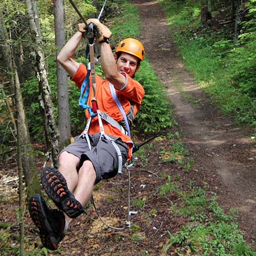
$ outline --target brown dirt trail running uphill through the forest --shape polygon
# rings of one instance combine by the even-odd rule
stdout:
[[[182,139],[200,172],[213,180],[223,208],[239,208],[240,228],[245,238],[256,238],[256,150],[255,141],[239,126],[218,113],[184,68],[171,39],[164,11],[156,1],[132,0],[143,24],[140,40],[146,57],[165,84],[174,105]],[[181,91],[183,93],[181,93]],[[182,95],[197,99],[191,104]]]

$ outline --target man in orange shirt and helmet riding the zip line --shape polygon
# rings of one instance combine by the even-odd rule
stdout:
[[[29,212],[39,229],[42,244],[51,250],[57,249],[72,219],[83,212],[83,207],[92,196],[94,185],[102,179],[112,178],[117,174],[120,157],[122,165],[131,159],[133,144],[127,135],[130,129],[126,127],[123,120],[125,118],[113,99],[111,84],[114,86],[129,126],[144,96],[141,84],[132,79],[143,60],[144,48],[141,42],[126,38],[120,42],[113,56],[109,45],[110,30],[97,19],[89,19],[88,24],[91,23],[97,31],[101,67],[106,80],[96,75],[96,95],[90,88],[87,104],[92,107],[91,100],[96,98],[98,110],[119,124],[101,120],[96,114],[91,119],[88,131],[82,136],[77,136],[73,143],[60,152],[58,170],[53,167],[42,170],[42,186],[58,209],[50,209],[44,199],[36,194],[29,201]],[[58,62],[69,73],[78,88],[81,88],[87,75],[86,66],[73,58],[84,36],[83,27],[84,24],[78,25],[78,31],[57,57]],[[90,111],[87,109],[86,118],[90,119],[90,117]],[[102,121],[102,129],[100,129],[99,119]]]

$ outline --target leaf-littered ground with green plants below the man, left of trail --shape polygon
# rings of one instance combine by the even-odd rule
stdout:
[[[90,203],[87,214],[74,220],[53,252],[41,246],[38,230],[26,212],[26,255],[256,255],[238,229],[238,212],[225,213],[218,204],[214,188],[220,181],[197,168],[177,131],[165,131],[134,157],[131,228],[107,228]],[[19,246],[17,180],[10,169],[1,171],[1,255],[18,255]],[[122,175],[95,187],[99,214],[112,226],[125,226],[128,180],[123,169]],[[47,203],[52,205],[50,200]]]

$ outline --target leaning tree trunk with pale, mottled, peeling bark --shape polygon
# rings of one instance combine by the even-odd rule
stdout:
[[[42,49],[42,38],[38,23],[38,13],[35,0],[26,0],[26,8],[28,11],[29,28],[32,41],[34,42],[35,61],[39,84],[39,103],[40,111],[44,119],[44,127],[46,133],[46,142],[50,159],[55,167],[58,166],[58,129],[55,124],[54,111],[52,106],[51,90],[49,87],[45,54]]]

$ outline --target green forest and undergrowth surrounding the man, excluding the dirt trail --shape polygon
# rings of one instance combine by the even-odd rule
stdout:
[[[170,26],[168,40],[174,42],[186,71],[193,75],[216,110],[230,118],[232,124],[242,127],[252,141],[254,155],[249,158],[253,166],[255,0],[76,0],[74,3],[84,19],[99,17],[102,10],[100,21],[113,33],[113,53],[125,37],[147,39],[150,32],[142,26],[138,6],[149,12],[151,5],[157,4]],[[145,96],[132,127],[132,138],[135,144],[143,144],[149,138],[154,140],[135,153],[137,162],[133,168],[140,170],[140,175],[134,176],[132,186],[139,188],[132,190],[131,202],[140,216],[136,214],[130,230],[108,231],[100,222],[95,224],[97,216],[90,203],[86,209],[88,216],[82,215],[73,224],[72,234],[60,249],[51,252],[42,247],[29,218],[27,201],[35,193],[43,194],[41,168],[57,167],[59,152],[86,124],[84,110],[78,104],[80,91],[56,61],[60,49],[82,21],[68,0],[11,0],[2,1],[0,6],[1,255],[256,255],[255,230],[244,233],[241,229],[246,225],[239,222],[239,211],[221,208],[218,193],[211,193],[218,180],[212,181],[214,178],[209,174],[198,170],[196,160],[182,141],[179,118],[167,93],[168,87],[179,88],[179,82],[173,80],[167,84],[158,75],[161,71],[173,72],[175,76],[178,70],[166,72],[161,64],[154,67],[153,51],[146,48],[145,60],[135,77]],[[154,14],[151,19],[154,23]],[[166,30],[166,34],[155,39],[155,51],[166,50],[160,41],[167,35]],[[86,47],[84,40],[75,52],[76,61],[87,62]],[[95,57],[100,63],[97,44]],[[103,77],[100,65],[95,68]],[[200,103],[184,91],[181,94],[190,104]],[[146,183],[146,192],[141,190],[140,183],[146,182],[147,175],[152,178]],[[127,208],[123,206],[127,202],[122,185],[127,185],[127,174],[119,179],[95,188],[95,201],[112,225],[118,225]],[[53,204],[51,200],[48,202]],[[9,209],[7,205],[11,205]],[[77,230],[79,225],[90,236],[84,238]],[[103,243],[108,246],[102,248]]]

